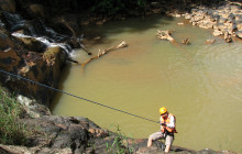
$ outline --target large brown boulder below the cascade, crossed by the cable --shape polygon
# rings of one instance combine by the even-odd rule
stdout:
[[[51,46],[44,53],[31,52],[24,45],[4,33],[0,34],[0,68],[8,73],[23,76],[50,87],[57,87],[62,67],[66,62],[66,52],[59,46]],[[55,91],[40,85],[0,74],[1,84],[11,91],[50,106]]]

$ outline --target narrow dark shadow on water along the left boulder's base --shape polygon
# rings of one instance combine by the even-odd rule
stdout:
[[[66,64],[66,66],[65,66],[64,69],[62,70],[62,76],[61,76],[61,78],[59,78],[59,80],[58,80],[58,87],[57,87],[57,89],[59,89],[59,90],[64,89],[64,82],[65,82],[65,80],[68,78],[68,76],[69,76],[69,74],[70,74],[70,68],[72,68],[72,64],[68,63],[68,64]],[[58,91],[55,92],[55,96],[53,97],[54,99],[52,100],[51,107],[50,107],[51,112],[52,112],[53,109],[55,109],[55,107],[58,105],[62,95],[63,95],[62,92],[58,92]]]

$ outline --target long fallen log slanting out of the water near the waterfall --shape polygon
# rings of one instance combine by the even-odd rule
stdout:
[[[91,61],[97,59],[97,58],[103,56],[103,55],[107,54],[108,52],[116,51],[116,50],[119,50],[119,48],[123,48],[123,47],[127,47],[127,46],[128,46],[128,44],[123,41],[122,43],[120,43],[119,45],[117,45],[117,47],[111,46],[111,47],[109,47],[109,48],[107,48],[107,50],[105,50],[105,51],[102,51],[102,52],[101,52],[101,50],[99,50],[97,56],[94,56],[94,57],[89,58],[88,61],[86,61],[85,63],[82,63],[81,66],[85,67],[88,63],[90,63]]]

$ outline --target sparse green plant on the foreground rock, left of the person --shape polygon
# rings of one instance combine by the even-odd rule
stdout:
[[[127,145],[124,145],[127,143]],[[133,153],[133,147],[130,146],[129,139],[124,136],[120,129],[119,125],[117,127],[117,133],[114,134],[114,139],[111,144],[108,142],[106,143],[106,148],[107,152],[110,154],[132,154]]]

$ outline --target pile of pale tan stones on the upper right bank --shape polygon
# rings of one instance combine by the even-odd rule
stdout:
[[[218,8],[191,9],[185,19],[193,25],[202,29],[213,29],[213,36],[223,36],[230,43],[235,37],[242,38],[242,4],[227,3]]]

